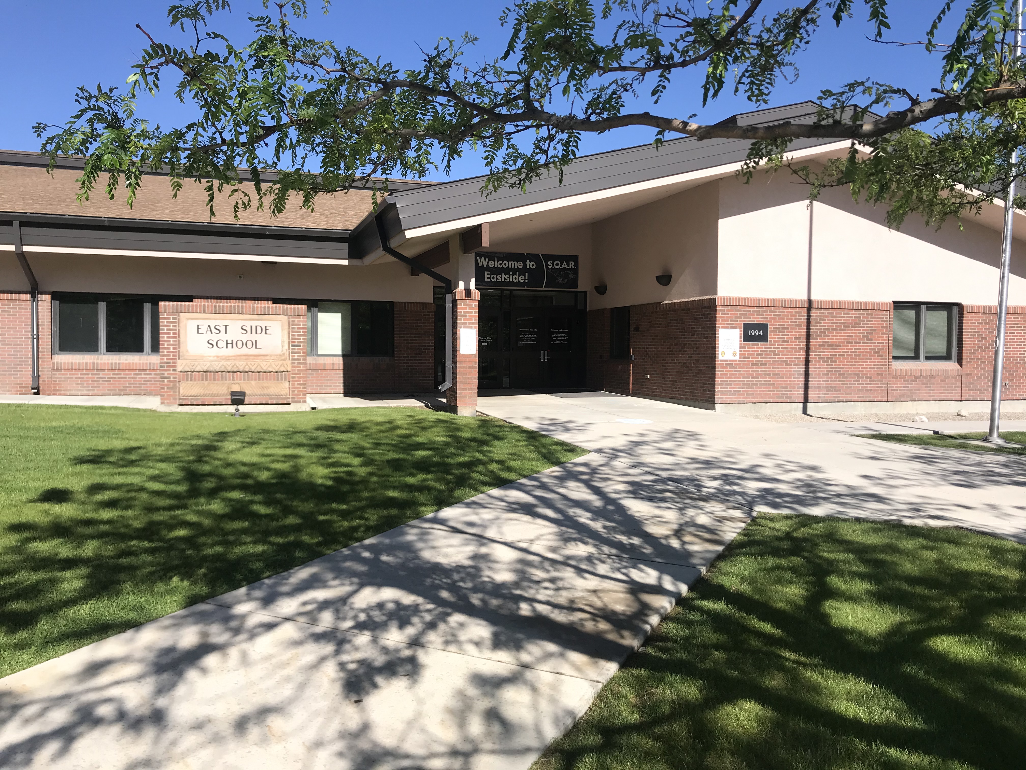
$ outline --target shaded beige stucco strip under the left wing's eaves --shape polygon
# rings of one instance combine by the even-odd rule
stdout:
[[[28,257],[42,292],[431,302],[433,285],[427,276],[413,277],[408,267],[395,261],[373,265],[265,265],[157,257]],[[0,292],[27,288],[13,253],[0,252]]]

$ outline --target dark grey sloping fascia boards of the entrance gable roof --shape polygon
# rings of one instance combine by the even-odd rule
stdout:
[[[818,105],[815,102],[800,102],[742,113],[721,122],[742,125],[785,120],[812,123],[816,118],[817,109]],[[803,150],[837,142],[838,140],[796,140],[791,148]],[[396,205],[401,229],[409,231],[456,219],[484,217],[532,203],[737,164],[745,160],[750,146],[751,143],[746,140],[698,140],[694,137],[682,137],[667,140],[662,146],[636,145],[594,155],[583,155],[563,168],[561,184],[557,175],[551,175],[532,182],[526,192],[521,192],[519,189],[504,189],[485,196],[482,187],[487,177],[480,176],[443,182],[420,190],[397,191],[390,194],[388,199]],[[354,228],[354,234],[365,226],[366,222],[361,222]]]

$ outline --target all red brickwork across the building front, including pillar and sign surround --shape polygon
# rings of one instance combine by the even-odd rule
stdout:
[[[477,292],[457,293],[450,406],[477,403],[477,355],[459,353],[459,330],[477,328]],[[30,296],[0,294],[0,392],[31,387]],[[285,315],[285,371],[185,372],[179,367],[179,314]],[[990,397],[996,308],[965,305],[959,312],[953,362],[891,359],[893,307],[887,302],[709,297],[631,308],[633,360],[610,360],[609,312],[588,313],[590,388],[713,403],[836,401],[961,401]],[[303,305],[266,299],[197,299],[160,304],[159,355],[51,352],[51,304],[39,298],[40,388],[53,395],[155,395],[164,403],[225,403],[227,396],[182,395],[182,383],[243,382],[250,403],[302,402],[311,393],[426,392],[433,385],[434,305],[395,303],[393,356],[308,356]],[[742,343],[738,361],[716,359],[717,330],[770,324],[770,340]],[[1003,396],[1026,399],[1026,307],[1009,309]],[[269,383],[268,386],[261,385]],[[270,385],[287,383],[287,385]],[[246,386],[243,386],[245,389]],[[278,395],[260,395],[273,387]]]

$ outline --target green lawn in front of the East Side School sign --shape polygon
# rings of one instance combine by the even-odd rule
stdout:
[[[418,409],[0,405],[0,677],[582,454]]]

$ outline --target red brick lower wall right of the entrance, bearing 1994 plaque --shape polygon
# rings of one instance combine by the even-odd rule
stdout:
[[[631,307],[633,361],[609,360],[609,312],[589,312],[588,386],[713,403],[960,401],[990,397],[996,307],[959,313],[954,362],[892,361],[890,302],[709,297]],[[770,324],[716,359],[717,330]],[[1026,398],[1026,307],[1009,309],[1003,397]]]

